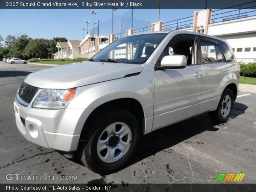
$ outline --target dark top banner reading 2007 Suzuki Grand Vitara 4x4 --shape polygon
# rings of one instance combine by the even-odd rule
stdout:
[[[177,9],[239,8],[254,0],[1,0],[1,9]]]

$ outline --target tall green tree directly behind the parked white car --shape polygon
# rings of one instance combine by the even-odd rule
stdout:
[[[31,38],[26,34],[19,36],[16,41],[14,41],[13,46],[10,49],[10,55],[17,58],[25,58],[24,49],[30,40]]]

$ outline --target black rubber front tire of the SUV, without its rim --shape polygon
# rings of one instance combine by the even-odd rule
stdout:
[[[98,174],[104,175],[116,172],[130,160],[136,151],[140,138],[138,121],[131,112],[122,108],[104,112],[94,119],[95,120],[91,120],[88,126],[85,127],[86,131],[80,136],[80,143],[78,146],[79,158],[81,158],[82,163],[85,166]],[[102,161],[97,154],[97,142],[104,129],[115,122],[124,122],[130,127],[132,140],[130,141],[130,147],[122,158],[116,162],[107,163]],[[81,141],[83,139],[85,141]]]

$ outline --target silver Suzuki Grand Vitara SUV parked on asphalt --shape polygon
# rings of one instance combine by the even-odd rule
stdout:
[[[140,135],[205,112],[226,122],[239,76],[220,38],[185,31],[126,36],[87,62],[28,75],[14,101],[16,124],[27,140],[76,151],[106,174],[132,157]]]

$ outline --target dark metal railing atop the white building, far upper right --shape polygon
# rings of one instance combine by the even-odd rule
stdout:
[[[234,8],[234,10],[230,10],[231,8]],[[228,7],[225,9],[213,10],[211,23],[218,23],[223,21],[230,21],[230,20],[235,20],[240,18],[256,16],[255,8],[256,8],[256,1],[252,1],[248,3]]]

